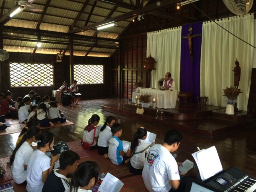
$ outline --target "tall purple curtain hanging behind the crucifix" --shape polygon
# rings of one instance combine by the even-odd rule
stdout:
[[[192,26],[192,34],[202,34],[202,22],[182,26],[181,35],[187,36]],[[192,38],[193,62],[190,61],[188,39],[181,40],[180,54],[180,92],[191,92],[193,102],[200,96],[200,60],[202,36]]]

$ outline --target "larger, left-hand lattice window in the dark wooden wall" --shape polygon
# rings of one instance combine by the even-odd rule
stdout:
[[[11,87],[53,86],[52,64],[10,63]]]

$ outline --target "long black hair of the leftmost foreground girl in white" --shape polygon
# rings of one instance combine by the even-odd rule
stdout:
[[[33,138],[33,136],[37,136],[40,133],[40,129],[36,126],[33,126],[31,128],[28,129],[28,131],[24,134],[24,136],[22,137],[22,140],[19,142],[19,144],[16,146],[16,148],[14,149],[14,151],[12,152],[12,156],[10,157],[10,164],[12,165],[15,159],[15,154],[18,151],[18,149],[20,148],[20,146],[22,146],[22,144],[30,138]]]

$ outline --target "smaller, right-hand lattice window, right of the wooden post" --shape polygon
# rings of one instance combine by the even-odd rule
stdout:
[[[74,65],[74,80],[77,84],[103,84],[103,65]]]

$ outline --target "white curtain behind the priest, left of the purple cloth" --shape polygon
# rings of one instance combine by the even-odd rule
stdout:
[[[150,32],[147,42],[147,57],[156,60],[156,70],[151,72],[151,87],[157,88],[166,72],[172,74],[176,89],[180,90],[180,45],[181,27]]]

